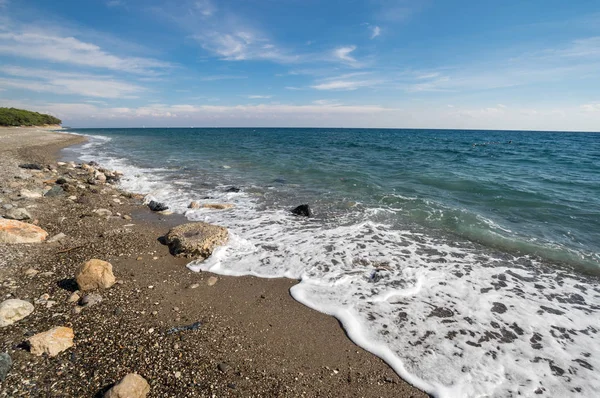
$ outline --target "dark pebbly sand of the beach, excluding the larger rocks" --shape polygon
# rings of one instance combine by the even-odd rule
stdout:
[[[3,192],[3,198],[52,177],[43,172],[32,177],[17,168],[19,162],[55,164],[62,148],[85,140],[63,132],[18,130],[28,131],[4,140],[6,133],[0,130],[9,144],[0,150],[6,164],[0,182],[11,191]],[[47,141],[40,144],[37,139]],[[0,254],[18,252],[7,264],[0,262],[4,297],[11,294],[33,303],[49,294],[46,302],[55,301],[49,308],[34,304],[29,317],[0,329],[6,336],[0,351],[13,358],[0,396],[102,396],[134,371],[150,383],[149,396],[157,397],[427,396],[352,343],[335,318],[295,301],[289,289],[296,281],[191,272],[185,268],[187,261],[172,257],[157,241],[185,220],[152,213],[139,199],[109,185],[86,189],[77,194],[85,200],[60,196],[17,201],[34,206],[26,208],[49,236],[62,232],[66,238],[0,245]],[[97,208],[113,215],[98,217],[92,213]],[[71,291],[61,286],[90,258],[109,261],[122,284],[100,292],[101,303],[74,314],[75,305],[67,302]],[[32,267],[37,275],[23,274]],[[52,274],[41,276],[48,272]],[[207,284],[210,277],[217,278],[213,286]],[[202,323],[198,330],[166,333],[197,321]],[[24,336],[58,325],[71,325],[75,331],[75,346],[66,352],[34,357],[21,347]]]

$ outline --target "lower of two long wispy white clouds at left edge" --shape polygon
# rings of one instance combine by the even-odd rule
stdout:
[[[49,92],[56,95],[75,94],[99,98],[137,98],[145,91],[141,86],[119,81],[110,76],[56,72],[47,69],[1,67],[0,72],[12,76],[0,78],[0,87]]]

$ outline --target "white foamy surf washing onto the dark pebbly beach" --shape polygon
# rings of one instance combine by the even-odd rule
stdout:
[[[211,202],[234,209],[188,210],[203,195],[167,182],[168,171],[95,160],[124,171],[125,189],[230,230],[227,245],[188,268],[298,279],[296,300],[338,318],[356,344],[434,396],[591,398],[600,391],[595,280],[372,221],[391,209],[365,209],[352,223],[317,222],[287,209],[257,211],[258,198],[220,187]]]

